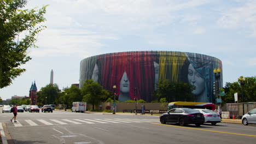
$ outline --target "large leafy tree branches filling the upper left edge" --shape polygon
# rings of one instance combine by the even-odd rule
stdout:
[[[45,26],[47,5],[40,9],[23,9],[27,0],[0,1],[0,88],[9,86],[26,69],[21,64],[30,61],[29,47],[37,47],[36,37]],[[20,38],[21,37],[21,38]]]

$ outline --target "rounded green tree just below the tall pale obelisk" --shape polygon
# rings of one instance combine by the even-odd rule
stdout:
[[[59,99],[59,87],[57,84],[49,84],[42,87],[37,92],[37,103],[38,105],[56,104],[56,100]]]

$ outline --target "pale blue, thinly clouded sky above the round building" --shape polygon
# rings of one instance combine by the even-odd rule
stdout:
[[[44,0],[47,28],[28,50],[31,61],[2,99],[29,95],[50,83],[60,89],[79,83],[82,59],[112,52],[181,51],[222,61],[223,82],[256,75],[256,1],[246,0]]]

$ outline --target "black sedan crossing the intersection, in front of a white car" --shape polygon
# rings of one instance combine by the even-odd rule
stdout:
[[[205,122],[205,117],[202,113],[189,108],[176,108],[163,113],[160,116],[160,122],[165,123],[178,123],[181,126],[187,124],[195,124],[199,127]]]

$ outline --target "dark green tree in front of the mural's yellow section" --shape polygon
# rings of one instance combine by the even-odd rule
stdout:
[[[158,97],[158,100],[166,98],[168,102],[194,101],[192,91],[195,87],[189,83],[171,83],[170,80],[159,80],[157,87],[158,89],[155,94]]]

